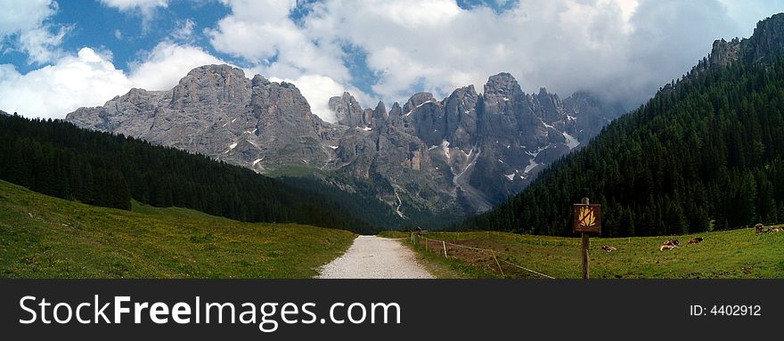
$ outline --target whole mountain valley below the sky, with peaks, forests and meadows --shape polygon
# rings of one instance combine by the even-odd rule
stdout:
[[[64,119],[0,111],[0,273],[570,279],[590,198],[592,278],[784,278],[782,37],[778,13],[715,40],[625,114],[500,72],[389,107],[343,92],[328,121],[221,63]]]

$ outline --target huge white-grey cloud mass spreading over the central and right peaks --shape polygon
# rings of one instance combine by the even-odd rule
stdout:
[[[267,77],[323,76],[350,88],[341,46],[352,45],[367,53],[379,77],[372,90],[388,102],[421,87],[437,96],[468,84],[481,91],[488,76],[507,71],[527,92],[588,89],[636,105],[687,72],[714,39],[753,25],[739,29],[741,16],[728,14],[747,3],[738,0],[532,0],[500,13],[453,0],[325,0],[310,4],[301,25],[289,18],[293,0],[224,2],[232,14],[206,31],[217,51]]]

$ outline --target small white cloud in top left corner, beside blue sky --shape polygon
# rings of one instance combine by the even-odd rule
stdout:
[[[53,0],[0,2],[0,44],[28,54],[29,63],[54,61],[62,55],[60,45],[70,26],[46,22],[58,11]]]

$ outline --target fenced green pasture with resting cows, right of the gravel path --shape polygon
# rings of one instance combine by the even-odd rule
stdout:
[[[389,237],[397,234],[388,233]],[[415,247],[424,255],[422,259],[449,266],[466,277],[540,278],[503,261],[555,278],[582,276],[578,238],[495,231],[431,232],[427,237],[431,240],[427,252],[421,240]],[[687,244],[691,237],[704,240]],[[681,240],[681,248],[659,251],[658,247],[671,238]],[[432,240],[492,249],[499,262],[496,263],[490,252],[448,244],[448,257],[444,257],[443,244]],[[600,248],[602,245],[613,246],[617,251],[605,252]],[[592,238],[589,259],[592,278],[784,278],[784,232],[756,234],[753,229],[740,229],[684,236]]]

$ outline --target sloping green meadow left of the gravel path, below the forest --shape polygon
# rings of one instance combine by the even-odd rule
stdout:
[[[0,278],[309,278],[354,238],[177,207],[91,207],[0,181]]]

